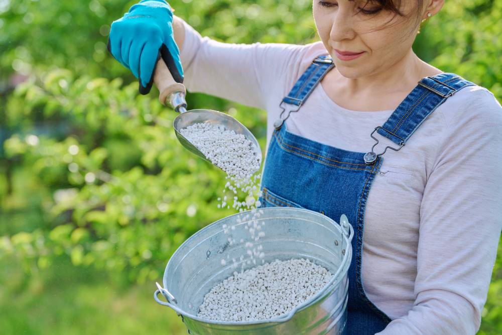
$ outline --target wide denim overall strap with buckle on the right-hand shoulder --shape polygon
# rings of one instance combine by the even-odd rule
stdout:
[[[394,110],[384,125],[376,127],[371,133],[370,136],[376,143],[371,148],[371,151],[365,154],[364,161],[367,164],[375,162],[376,158],[385,154],[387,149],[399,151],[439,105],[460,89],[473,85],[476,84],[450,72],[422,78],[418,82],[418,85]],[[381,154],[375,154],[373,149],[379,143],[373,137],[375,131],[400,147],[398,149],[386,147]]]

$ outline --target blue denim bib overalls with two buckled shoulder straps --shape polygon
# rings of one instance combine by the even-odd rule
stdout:
[[[475,85],[454,73],[422,78],[383,126],[380,135],[399,148],[377,154],[327,146],[287,131],[285,120],[305,102],[322,77],[334,67],[329,55],[317,57],[281,102],[274,123],[262,179],[262,207],[291,206],[321,212],[335,221],[345,214],[354,228],[352,261],[348,270],[347,334],[374,334],[391,321],[367,298],[361,281],[364,212],[371,183],[387,149],[399,151],[426,118],[459,89]],[[336,135],[333,135],[336,136]],[[368,148],[369,149],[369,148]],[[385,276],[385,269],[382,269]]]

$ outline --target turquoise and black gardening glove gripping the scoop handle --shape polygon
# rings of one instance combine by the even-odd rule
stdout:
[[[174,41],[173,11],[164,0],[142,0],[111,24],[108,51],[150,92],[160,57],[176,82],[183,83],[180,51]]]

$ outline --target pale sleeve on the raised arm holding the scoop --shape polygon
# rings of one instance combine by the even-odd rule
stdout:
[[[298,64],[315,43],[222,43],[202,37],[182,22],[185,40],[180,59],[187,90],[261,109],[266,109],[267,98],[285,81],[293,82]]]

